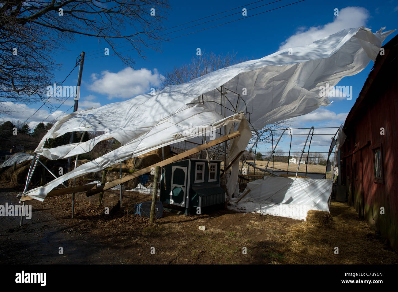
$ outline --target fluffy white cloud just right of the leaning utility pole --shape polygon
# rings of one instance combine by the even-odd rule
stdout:
[[[89,89],[107,95],[109,99],[113,97],[130,98],[142,93],[149,93],[150,87],[158,87],[161,84],[161,74],[154,69],[153,73],[145,68],[134,70],[125,68],[117,73],[109,71],[92,74],[93,83]]]

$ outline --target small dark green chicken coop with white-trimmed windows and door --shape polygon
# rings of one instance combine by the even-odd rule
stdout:
[[[185,214],[197,207],[224,203],[225,191],[220,187],[221,161],[209,162],[206,159],[185,159],[164,166],[160,201],[170,204],[170,207],[185,208]]]

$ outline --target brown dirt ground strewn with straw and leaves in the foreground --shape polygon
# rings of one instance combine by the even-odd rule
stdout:
[[[0,183],[0,204],[17,205],[20,191]],[[0,217],[0,264],[398,263],[397,253],[344,203],[332,202],[327,225],[224,210],[192,216],[164,212],[150,224],[133,215],[133,202],[149,198],[131,194],[120,209],[117,191],[105,192],[101,207],[98,195],[79,194],[74,219],[70,195],[27,201],[32,218],[22,227],[20,217]]]

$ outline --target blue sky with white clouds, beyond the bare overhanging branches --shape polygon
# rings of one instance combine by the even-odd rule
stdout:
[[[247,8],[247,14],[251,16],[295,1],[281,0],[274,4],[254,8],[267,4],[271,0],[261,1],[252,5],[247,4],[254,2],[254,0],[202,0],[200,2],[170,0],[171,9],[168,11],[168,15],[166,15],[167,20],[164,21],[164,27],[173,27],[238,6]],[[254,9],[250,10],[250,8]],[[338,17],[334,15],[335,8],[339,9]],[[242,11],[242,8],[227,12],[226,14],[220,14],[220,16],[239,11]],[[218,21],[171,33],[168,37],[177,37],[241,17],[241,14],[232,15]],[[148,93],[151,87],[160,85],[160,74],[166,72],[166,70],[172,70],[174,66],[190,62],[192,56],[196,54],[197,48],[201,48],[202,53],[214,52],[216,54],[226,54],[228,52],[236,52],[237,58],[258,59],[272,54],[282,47],[305,45],[315,39],[325,37],[344,28],[365,25],[372,29],[373,32],[376,32],[380,27],[386,27],[386,30],[396,29],[398,28],[396,19],[398,19],[398,0],[337,0],[328,2],[306,0],[271,12],[246,17],[243,20],[163,42],[160,44],[162,52],[146,50],[147,58],[145,60],[135,54],[134,51],[130,51],[131,56],[135,59],[134,68],[128,68],[112,52],[110,52],[109,56],[104,56],[103,50],[107,45],[99,43],[97,39],[77,37],[73,43],[59,44],[60,49],[55,52],[55,60],[58,63],[62,63],[62,70],[55,72],[57,78],[55,82],[59,83],[66,77],[73,68],[76,57],[81,51],[85,51],[87,56],[84,62],[79,109],[90,108],[92,106],[99,107],[111,102],[123,101],[141,93]],[[200,22],[202,21],[191,23],[190,25]],[[388,36],[385,43],[396,34],[397,32],[394,32]],[[125,45],[125,43],[122,45]],[[121,51],[129,49],[131,49],[129,46],[120,48]],[[321,107],[308,115],[298,117],[289,126],[293,128],[339,126],[344,122],[347,113],[353,106],[372,66],[373,62],[370,62],[365,70],[357,75],[343,78],[338,84],[353,86],[352,100],[345,98],[334,99],[334,102],[329,106]],[[66,79],[64,85],[76,85],[77,75],[78,70],[76,69]],[[72,109],[70,109],[72,104],[73,99],[70,98],[53,114],[45,107],[42,107],[29,120],[29,126],[35,126],[35,124],[41,122],[49,114],[51,116],[46,121],[53,120],[68,109],[67,112],[72,112]],[[16,120],[24,120],[40,105],[40,103],[29,106],[25,104],[12,104],[12,108],[18,110],[18,112],[14,112],[12,116],[3,116],[2,120],[13,120],[14,122]],[[306,131],[308,132],[308,130]],[[318,132],[328,133],[331,131]],[[303,136],[298,137],[300,138],[296,138],[293,143],[293,151],[297,151],[302,147],[300,146],[303,143],[302,139],[305,139]],[[328,148],[327,145],[330,143],[330,138],[319,136],[312,143],[314,151],[327,151],[326,148]],[[281,143],[281,149],[287,151],[288,148],[289,146],[286,141]],[[259,149],[265,151],[268,147],[261,145]]]

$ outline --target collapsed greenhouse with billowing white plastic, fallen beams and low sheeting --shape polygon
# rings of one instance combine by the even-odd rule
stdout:
[[[344,29],[307,46],[280,50],[258,60],[222,68],[154,94],[143,94],[127,101],[67,114],[48,131],[35,149],[21,201],[43,201],[52,195],[79,191],[93,195],[108,190],[150,172],[151,167],[100,187],[89,184],[54,189],[66,180],[98,172],[167,145],[188,142],[195,147],[184,147],[182,153],[154,166],[162,167],[204,152],[208,161],[224,159],[226,198],[232,205],[236,205],[239,197],[240,200],[250,193],[247,198],[250,197],[252,203],[264,206],[264,202],[270,203],[270,195],[276,194],[271,202],[305,205],[307,211],[329,211],[332,180],[326,180],[326,174],[325,179],[298,178],[297,168],[296,177],[263,176],[250,182],[244,193],[240,194],[238,176],[242,164],[238,158],[256,145],[266,132],[267,125],[328,106],[331,101],[327,96],[320,95],[320,87],[326,84],[335,86],[343,77],[361,72],[370,60],[375,60],[383,40],[391,32],[380,29],[372,33],[365,27]],[[205,130],[198,132],[193,128]],[[86,142],[44,148],[48,139],[74,131],[105,133]],[[210,132],[216,133],[216,136],[211,137]],[[310,133],[307,140],[309,136]],[[106,139],[119,141],[121,147],[80,166],[75,164],[73,170],[44,186],[28,190],[37,162],[41,163],[40,156],[51,160],[76,157],[91,151],[97,143]],[[337,151],[343,141],[344,134],[339,129],[332,139],[329,153]],[[275,148],[276,145],[273,145],[271,156]],[[329,162],[327,168],[338,166],[337,157],[334,155],[333,165]]]

